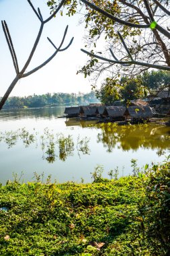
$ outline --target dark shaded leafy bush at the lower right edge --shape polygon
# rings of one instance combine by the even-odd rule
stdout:
[[[153,165],[147,172],[146,199],[141,213],[144,214],[144,233],[149,243],[163,253],[170,253],[170,162]]]

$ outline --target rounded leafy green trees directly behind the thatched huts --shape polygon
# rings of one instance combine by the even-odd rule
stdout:
[[[168,71],[144,71],[142,75],[128,76],[119,79],[106,78],[101,88],[95,90],[97,98],[106,105],[114,104],[115,100],[135,100],[146,97],[152,90],[163,90],[170,86]]]

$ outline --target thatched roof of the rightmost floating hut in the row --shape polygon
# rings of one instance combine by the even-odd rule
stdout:
[[[153,111],[150,106],[129,106],[128,113],[130,117],[153,117]]]

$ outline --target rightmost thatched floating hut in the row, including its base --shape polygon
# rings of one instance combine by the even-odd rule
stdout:
[[[153,110],[150,106],[129,106],[125,115],[133,119],[133,121],[148,120],[153,117]]]

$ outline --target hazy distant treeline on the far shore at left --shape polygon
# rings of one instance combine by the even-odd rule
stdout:
[[[42,94],[27,97],[9,97],[3,108],[36,108],[42,106],[65,106],[65,105],[77,105],[88,104],[92,102],[99,102],[95,97],[94,92],[88,94],[67,94],[67,93],[54,93],[54,94]]]

